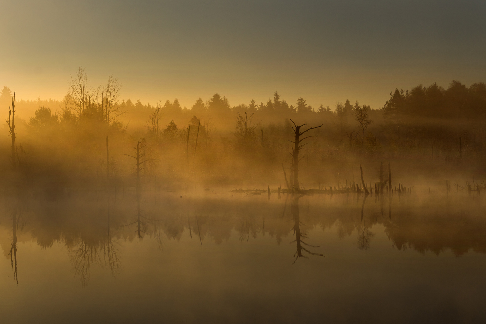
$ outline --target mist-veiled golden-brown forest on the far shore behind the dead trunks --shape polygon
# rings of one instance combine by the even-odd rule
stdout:
[[[218,93],[207,101],[198,98],[190,108],[177,99],[143,104],[121,100],[121,84],[111,76],[106,85],[91,86],[83,68],[68,88],[60,101],[14,102],[15,144],[2,146],[1,163],[23,185],[83,186],[111,175],[112,182],[135,187],[130,156],[138,142],[145,156],[139,166],[143,186],[279,185],[281,163],[294,168],[288,155],[293,121],[322,124],[300,154],[305,159],[296,186],[335,184],[344,169],[351,173],[363,164],[376,170],[383,160],[413,160],[410,167],[423,174],[455,173],[460,163],[463,170],[482,175],[484,83],[396,89],[375,109],[349,100],[333,109],[314,109],[303,98],[294,106],[277,91],[266,103],[251,100],[237,106]],[[5,118],[13,96],[4,86],[0,105]],[[12,131],[4,128],[4,135],[12,138]]]

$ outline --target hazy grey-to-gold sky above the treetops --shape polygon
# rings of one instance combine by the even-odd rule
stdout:
[[[0,87],[62,99],[79,67],[188,108],[278,91],[380,108],[395,88],[486,82],[486,1],[0,0]]]

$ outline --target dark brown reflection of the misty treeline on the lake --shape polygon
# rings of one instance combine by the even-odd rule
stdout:
[[[485,202],[477,195],[448,192],[419,198],[405,189],[400,199],[391,192],[379,192],[374,200],[363,193],[284,195],[285,199],[278,195],[229,198],[224,193],[179,198],[172,193],[127,191],[117,198],[109,191],[61,190],[53,199],[52,190],[49,195],[31,191],[21,198],[6,199],[5,215],[11,220],[1,220],[0,226],[12,225],[5,255],[11,259],[16,281],[20,231],[43,248],[50,248],[53,242],[66,246],[73,273],[82,285],[88,283],[94,266],[116,276],[121,270],[121,247],[133,239],[142,241],[148,236],[156,240],[158,253],[163,254],[163,238],[180,240],[183,233],[191,239],[196,236],[193,242],[198,245],[205,241],[223,244],[232,235],[242,243],[265,235],[277,244],[286,239],[295,243],[293,263],[298,258],[324,256],[326,247],[309,237],[315,228],[336,228],[337,239],[355,233],[360,250],[372,247],[377,234],[373,226],[381,225],[398,250],[439,254],[450,248],[457,256],[469,250],[486,253]],[[386,204],[388,217],[384,215]],[[5,250],[7,246],[1,243]]]

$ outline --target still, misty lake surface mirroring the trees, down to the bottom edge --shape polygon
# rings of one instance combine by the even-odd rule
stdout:
[[[486,323],[482,195],[364,198],[5,196],[1,322]]]

